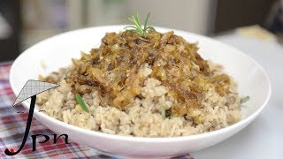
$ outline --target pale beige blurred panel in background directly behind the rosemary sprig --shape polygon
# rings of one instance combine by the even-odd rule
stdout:
[[[128,24],[127,17],[139,11],[151,13],[149,25],[172,27],[197,34],[213,30],[217,0],[119,0],[105,4],[88,0],[88,27]]]

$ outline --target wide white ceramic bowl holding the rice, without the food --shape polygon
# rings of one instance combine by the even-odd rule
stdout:
[[[98,46],[106,32],[119,32],[125,26],[106,26],[80,29],[58,34],[35,44],[23,52],[12,64],[10,73],[11,88],[19,95],[27,79],[37,79],[39,74],[47,75],[58,68],[71,64],[72,57],[80,57],[80,51],[89,51]],[[264,109],[271,96],[270,80],[263,68],[238,49],[217,42],[208,37],[184,31],[156,27],[158,32],[173,30],[188,42],[199,42],[199,53],[205,59],[223,64],[238,83],[240,95],[251,99],[242,107],[240,122],[210,133],[185,137],[141,138],[111,135],[86,130],[65,124],[34,110],[34,117],[57,134],[66,133],[70,140],[110,155],[172,156],[208,148],[249,125]],[[42,63],[46,69],[42,69]],[[23,102],[26,109],[29,102]],[[258,130],[260,131],[260,130]]]

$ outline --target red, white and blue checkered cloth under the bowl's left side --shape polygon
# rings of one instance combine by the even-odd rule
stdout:
[[[107,155],[100,155],[96,150],[80,146],[74,142],[65,144],[65,140],[59,138],[56,144],[47,141],[36,143],[36,151],[32,151],[32,134],[54,134],[50,129],[41,125],[35,118],[28,134],[25,147],[17,155],[8,156],[4,150],[17,151],[27,125],[28,111],[21,105],[12,107],[15,96],[11,91],[8,76],[11,64],[0,64],[0,158],[115,158]],[[17,113],[24,112],[24,113]],[[39,139],[41,140],[41,139]],[[182,155],[176,158],[193,158],[191,155]]]

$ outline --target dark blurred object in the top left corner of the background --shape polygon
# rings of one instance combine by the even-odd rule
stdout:
[[[0,1],[0,15],[11,27],[11,34],[0,38],[0,62],[11,61],[19,56],[19,12],[19,0]]]

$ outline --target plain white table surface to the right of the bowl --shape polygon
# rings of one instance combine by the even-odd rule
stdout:
[[[238,34],[221,35],[215,39],[241,49],[264,67],[272,81],[272,97],[255,121],[240,133],[213,147],[192,153],[192,155],[197,159],[281,158],[283,150],[282,45],[277,42],[264,42],[242,37]]]

